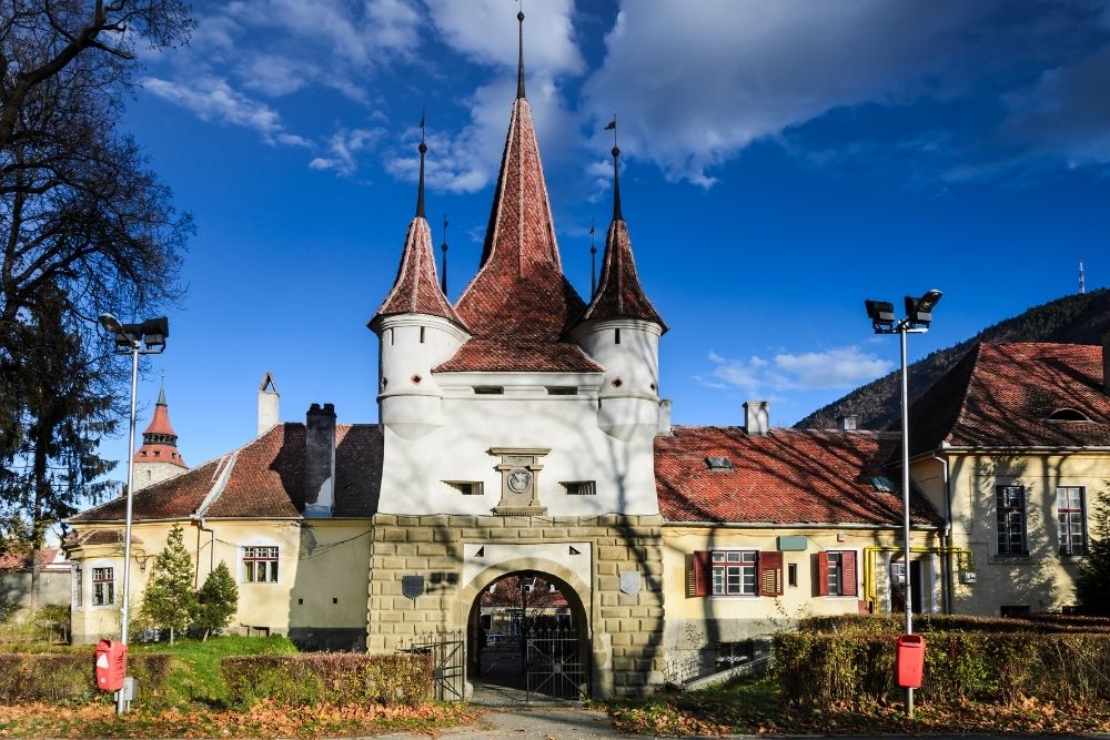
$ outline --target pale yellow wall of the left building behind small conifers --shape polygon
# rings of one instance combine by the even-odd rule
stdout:
[[[133,527],[142,541],[132,546],[132,621],[153,574],[154,556],[165,548],[173,521]],[[363,649],[366,635],[366,580],[370,567],[370,521],[366,519],[182,520],[185,549],[196,564],[199,588],[222,560],[239,586],[239,609],[230,631],[287,635],[305,647]],[[89,529],[82,527],[79,534]],[[110,527],[108,529],[118,529]],[[243,548],[278,547],[276,581],[250,582]],[[92,545],[70,551],[81,570],[81,597],[74,592],[73,641],[119,638],[123,584],[123,544]],[[115,599],[93,605],[93,569],[114,568]],[[74,581],[74,591],[75,581]]]

